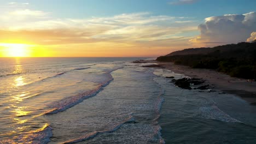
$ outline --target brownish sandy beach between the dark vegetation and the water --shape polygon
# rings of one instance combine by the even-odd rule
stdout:
[[[161,67],[172,70],[174,73],[184,74],[191,78],[206,80],[216,90],[232,93],[247,100],[250,104],[256,104],[256,82],[219,73],[210,69],[191,69],[184,65],[175,65],[171,62],[157,62]]]

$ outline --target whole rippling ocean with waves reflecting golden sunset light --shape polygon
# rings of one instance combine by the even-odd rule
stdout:
[[[256,106],[138,59],[0,58],[0,143],[256,143]]]

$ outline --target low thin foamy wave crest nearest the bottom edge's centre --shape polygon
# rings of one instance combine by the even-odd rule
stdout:
[[[130,115],[128,118],[126,118],[123,122],[114,125],[114,127],[110,128],[108,130],[95,131],[94,133],[85,135],[83,137],[79,137],[78,139],[74,139],[74,140],[69,140],[69,141],[63,142],[62,144],[77,143],[77,142],[81,142],[81,141],[92,139],[92,138],[94,138],[95,136],[97,136],[99,134],[112,133],[113,131],[118,130],[125,123],[131,123],[131,122],[135,122],[135,118],[133,118],[132,115]]]

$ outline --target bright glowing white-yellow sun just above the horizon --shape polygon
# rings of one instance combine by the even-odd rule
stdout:
[[[26,44],[0,44],[4,47],[5,57],[28,57],[28,45]]]

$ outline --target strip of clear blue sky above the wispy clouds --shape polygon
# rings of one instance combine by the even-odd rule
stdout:
[[[189,16],[203,20],[205,17],[224,14],[245,14],[255,11],[256,1],[195,1],[190,4],[169,4],[171,0],[44,0],[28,2],[34,9],[49,11],[56,17],[112,16],[123,13],[151,12],[154,15]],[[2,4],[7,1],[1,1]]]

